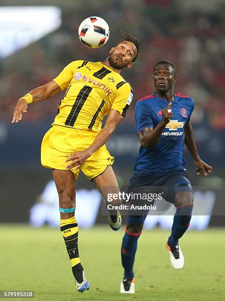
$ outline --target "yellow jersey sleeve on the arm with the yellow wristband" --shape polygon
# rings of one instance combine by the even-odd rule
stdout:
[[[80,65],[81,60],[75,60],[69,63],[67,66],[64,67],[63,71],[53,79],[54,82],[60,87],[61,91],[67,89],[69,83],[73,78],[73,71]]]

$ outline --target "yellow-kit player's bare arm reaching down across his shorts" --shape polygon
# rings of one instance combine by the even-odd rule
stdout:
[[[65,162],[72,161],[69,163],[66,168],[69,169],[77,169],[90,157],[96,150],[98,150],[101,146],[103,146],[111,137],[112,133],[116,130],[121,120],[124,117],[120,115],[120,113],[116,110],[111,110],[108,118],[106,120],[105,126],[102,130],[97,134],[96,139],[93,144],[85,151],[75,151],[73,152]]]

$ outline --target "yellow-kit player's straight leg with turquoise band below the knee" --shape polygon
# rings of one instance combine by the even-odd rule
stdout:
[[[78,226],[74,216],[76,181],[73,174],[67,170],[53,170],[53,178],[59,194],[60,229],[71,261],[76,288],[83,292],[89,289],[90,284],[84,275],[78,250]]]

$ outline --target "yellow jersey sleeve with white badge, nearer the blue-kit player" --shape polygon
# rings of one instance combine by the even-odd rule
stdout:
[[[127,110],[133,98],[133,91],[127,81],[117,85],[117,95],[113,101],[111,110],[116,110],[123,117],[126,116]]]

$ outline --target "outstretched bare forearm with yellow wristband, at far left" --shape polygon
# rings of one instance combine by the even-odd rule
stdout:
[[[56,84],[56,82],[51,81],[48,84],[38,87],[24,97],[21,97],[14,109],[12,123],[18,122],[22,119],[23,113],[27,113],[27,108],[29,103],[39,102],[50,98],[60,92],[60,87]]]

